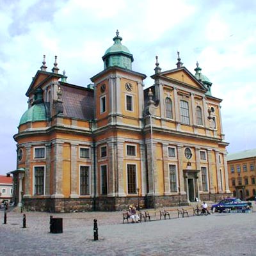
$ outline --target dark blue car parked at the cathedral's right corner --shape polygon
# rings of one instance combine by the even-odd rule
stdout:
[[[215,212],[223,212],[228,210],[246,210],[252,207],[252,202],[242,201],[239,198],[225,198],[218,204],[213,204],[211,210]]]

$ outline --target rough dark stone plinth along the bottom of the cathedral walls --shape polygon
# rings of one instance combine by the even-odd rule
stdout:
[[[227,194],[200,195],[200,201],[218,202]],[[122,211],[129,205],[139,205],[141,209],[189,205],[187,195],[172,196],[134,196],[100,198],[23,198],[27,211],[82,212],[82,211]]]

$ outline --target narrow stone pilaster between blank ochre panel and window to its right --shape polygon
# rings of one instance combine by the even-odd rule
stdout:
[[[71,194],[70,198],[78,198],[79,195],[77,194],[78,189],[78,172],[77,172],[77,150],[78,150],[77,143],[71,143],[71,175],[70,175],[70,182],[71,182]],[[93,155],[93,154],[92,154]],[[92,156],[93,157],[93,156]],[[92,173],[93,175],[93,173]]]

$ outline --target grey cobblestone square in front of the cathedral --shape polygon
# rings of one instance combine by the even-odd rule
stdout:
[[[122,212],[52,214],[63,233],[49,232],[50,213],[0,212],[0,255],[256,255],[256,212],[189,216],[123,224]],[[93,241],[93,219],[99,241]]]

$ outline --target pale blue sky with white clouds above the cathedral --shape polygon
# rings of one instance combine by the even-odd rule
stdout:
[[[196,61],[223,99],[228,153],[256,148],[256,1],[252,0],[0,0],[0,174],[15,170],[19,120],[43,55],[54,56],[67,82],[86,86],[103,70],[116,29],[134,56],[132,70],[154,81],[156,56],[176,68],[177,51],[195,74]]]

